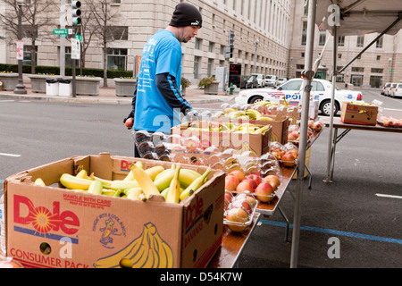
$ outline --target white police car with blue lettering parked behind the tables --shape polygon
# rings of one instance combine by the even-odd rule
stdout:
[[[301,96],[303,79],[291,79],[283,83],[278,88],[257,88],[252,90],[240,90],[239,96],[235,97],[235,102],[239,105],[254,104],[258,101],[269,100],[279,102],[285,98],[289,105],[298,105]],[[331,90],[332,83],[329,80],[314,79],[310,96],[319,101],[319,110],[322,115],[329,116],[331,110]],[[362,93],[356,90],[335,88],[334,114],[337,114],[343,102],[361,101]]]

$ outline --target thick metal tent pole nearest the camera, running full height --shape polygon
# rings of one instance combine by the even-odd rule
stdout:
[[[308,108],[310,105],[311,82],[314,78],[313,71],[313,51],[314,51],[314,28],[315,10],[317,0],[308,1],[308,20],[306,38],[306,60],[303,80],[302,112],[300,122],[300,143],[298,147],[297,159],[297,187],[295,196],[295,210],[293,218],[292,248],[290,254],[290,268],[297,268],[298,244],[300,238],[300,216],[301,216],[301,195],[306,169],[306,146],[308,128]]]

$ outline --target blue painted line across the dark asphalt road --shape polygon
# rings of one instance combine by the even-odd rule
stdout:
[[[260,222],[264,223],[264,224],[286,227],[286,223],[272,222],[272,221],[267,221],[267,220],[260,220]],[[289,223],[289,228],[293,228],[292,223]],[[322,229],[322,228],[313,227],[313,226],[303,226],[302,225],[302,226],[300,226],[300,230],[329,233],[329,234],[335,234],[335,235],[340,235],[340,236],[348,236],[351,238],[356,238],[356,239],[361,239],[361,240],[376,240],[376,241],[381,241],[381,242],[402,244],[402,240],[383,238],[380,236],[356,233],[356,232],[349,232],[349,231],[335,231],[335,230],[330,230],[330,229]]]

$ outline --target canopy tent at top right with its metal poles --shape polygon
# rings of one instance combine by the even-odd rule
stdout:
[[[297,189],[295,196],[294,223],[290,267],[297,267],[298,242],[300,235],[300,206],[301,190],[304,179],[306,164],[306,138],[308,126],[308,106],[310,100],[311,82],[314,78],[313,50],[314,50],[314,28],[318,25],[320,29],[328,29],[333,36],[332,50],[332,83],[335,83],[338,73],[344,71],[350,63],[353,63],[358,55],[372,46],[378,38],[384,34],[395,35],[402,29],[402,0],[306,0],[308,3],[307,38],[306,38],[306,60],[303,84],[302,113],[300,121],[300,144],[299,161],[297,164]],[[351,62],[339,71],[336,71],[337,47],[339,36],[364,35],[369,33],[380,33],[368,46],[356,55]],[[318,63],[317,63],[318,64]],[[332,84],[331,107],[334,105],[335,84]],[[330,136],[328,142],[328,166],[327,182],[331,181],[330,164],[332,151],[331,142],[333,137],[333,114],[330,121]]]

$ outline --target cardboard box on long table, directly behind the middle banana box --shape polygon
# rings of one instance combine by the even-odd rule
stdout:
[[[264,121],[264,120],[245,120],[245,119],[235,119],[231,122],[243,123],[249,122],[256,125],[271,125],[271,141],[272,142],[280,142],[281,144],[288,143],[288,131],[289,131],[289,116],[284,116],[282,114],[277,115],[265,115],[267,117],[271,117],[272,121]],[[219,122],[230,122],[230,119],[221,115],[216,118],[216,121]]]

